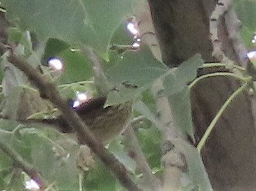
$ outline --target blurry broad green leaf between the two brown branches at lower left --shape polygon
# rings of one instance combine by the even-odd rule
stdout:
[[[20,139],[26,149],[29,149],[27,155],[31,156],[31,163],[45,179],[49,180],[50,184],[54,182],[60,190],[78,190],[76,165],[78,149],[73,148],[69,153],[62,148],[67,154],[57,157],[53,148],[62,146],[44,134],[43,131],[33,130],[33,128],[21,131]]]

